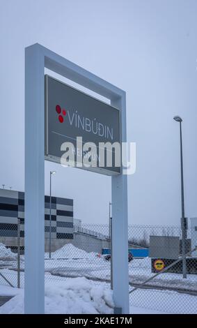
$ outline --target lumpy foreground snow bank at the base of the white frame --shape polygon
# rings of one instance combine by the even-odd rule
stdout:
[[[86,278],[53,281],[45,285],[45,313],[113,313],[112,292]],[[0,307],[0,314],[24,313],[24,295],[19,294]]]

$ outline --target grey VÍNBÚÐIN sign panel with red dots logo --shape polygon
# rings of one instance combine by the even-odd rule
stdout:
[[[120,174],[121,165],[115,165],[115,151],[111,151],[112,165],[107,167],[107,151],[100,167],[99,143],[120,143],[120,111],[88,96],[53,77],[45,75],[45,159],[61,163],[61,150],[64,142],[74,145],[74,162],[81,148],[77,137],[82,137],[82,144],[93,142],[97,149],[97,167],[84,167],[86,170],[102,174]],[[84,152],[83,152],[84,155]]]

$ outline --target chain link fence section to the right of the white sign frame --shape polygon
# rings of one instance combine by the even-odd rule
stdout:
[[[158,313],[197,313],[196,232],[195,227],[187,230],[187,278],[183,278],[181,228],[129,227],[129,240],[147,247],[149,253],[129,264],[132,306]]]

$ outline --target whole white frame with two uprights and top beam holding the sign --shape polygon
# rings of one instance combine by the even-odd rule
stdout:
[[[125,91],[36,43],[25,50],[24,313],[45,313],[45,68],[111,100],[126,137]],[[127,175],[111,177],[113,299],[129,313]]]

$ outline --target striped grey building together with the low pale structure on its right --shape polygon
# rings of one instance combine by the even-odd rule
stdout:
[[[45,195],[45,252],[49,251],[49,207],[50,197]],[[24,253],[24,222],[24,193],[0,189],[0,243],[17,251],[19,228],[19,243]],[[73,200],[52,197],[52,252],[71,243],[86,252],[102,253],[103,248],[110,248],[108,228],[105,233],[96,227],[88,229],[80,219],[73,218]],[[129,248],[139,246],[129,244]]]

